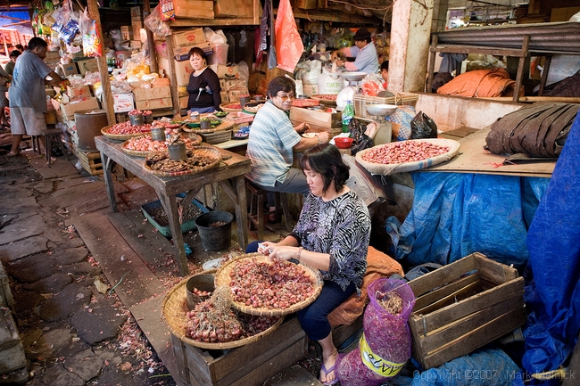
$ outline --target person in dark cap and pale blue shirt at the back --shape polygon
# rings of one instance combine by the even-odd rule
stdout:
[[[339,54],[355,58],[354,62],[339,60]],[[368,29],[358,29],[354,34],[354,46],[339,48],[330,58],[337,66],[344,66],[347,71],[362,71],[368,74],[376,74],[378,71],[377,48],[370,38]]]

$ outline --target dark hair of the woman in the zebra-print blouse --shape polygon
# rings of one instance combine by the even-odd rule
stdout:
[[[323,193],[327,192],[332,181],[335,181],[336,192],[338,192],[350,176],[350,167],[344,162],[340,151],[334,144],[317,144],[304,152],[300,159],[300,167],[302,171],[312,170],[322,176]]]

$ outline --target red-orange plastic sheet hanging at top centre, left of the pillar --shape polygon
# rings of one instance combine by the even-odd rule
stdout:
[[[276,35],[284,37],[276,42],[278,69],[294,72],[304,51],[304,45],[298,28],[296,28],[290,0],[280,0],[278,18],[276,19]]]

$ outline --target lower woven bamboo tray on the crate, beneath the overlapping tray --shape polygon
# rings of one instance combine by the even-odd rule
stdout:
[[[187,338],[186,336],[186,312],[188,311],[186,292],[187,280],[189,280],[189,277],[186,277],[181,282],[176,284],[170,290],[170,292],[165,295],[162,305],[162,316],[165,324],[167,324],[170,332],[175,337],[186,344],[199,347],[200,349],[234,349],[254,341],[259,341],[269,333],[273,333],[284,321],[284,317],[280,317],[278,322],[269,327],[269,329],[262,331],[259,334],[253,335],[252,337],[240,339],[239,341],[227,341],[224,343],[205,343],[202,341],[194,341],[193,339]]]

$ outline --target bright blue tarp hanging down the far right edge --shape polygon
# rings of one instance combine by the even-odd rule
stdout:
[[[570,129],[550,185],[527,234],[534,281],[522,363],[534,374],[555,370],[580,330],[580,114]]]

